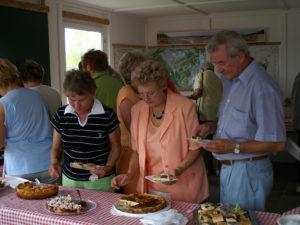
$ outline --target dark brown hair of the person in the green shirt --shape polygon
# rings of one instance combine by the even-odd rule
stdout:
[[[104,71],[108,68],[108,60],[105,52],[100,50],[91,49],[88,52],[84,53],[81,57],[83,68],[86,69],[89,64],[93,70]]]

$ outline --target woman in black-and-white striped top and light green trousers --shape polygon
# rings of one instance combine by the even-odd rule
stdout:
[[[121,147],[117,116],[94,97],[96,84],[88,72],[69,71],[64,92],[69,104],[60,107],[51,121],[54,132],[50,174],[59,177],[63,173],[63,186],[112,191],[110,182]],[[87,171],[71,167],[74,162],[98,166]],[[99,179],[90,181],[91,174]]]

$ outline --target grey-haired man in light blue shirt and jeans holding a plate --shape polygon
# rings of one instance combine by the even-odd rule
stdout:
[[[200,126],[199,135],[216,134],[202,147],[222,164],[220,199],[224,204],[264,211],[272,189],[272,152],[285,150],[282,93],[251,58],[246,41],[221,31],[207,45],[216,71],[225,77],[218,123]]]

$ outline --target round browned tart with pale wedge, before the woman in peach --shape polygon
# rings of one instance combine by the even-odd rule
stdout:
[[[123,212],[149,213],[159,211],[166,205],[166,200],[160,195],[135,193],[123,195],[115,207]]]

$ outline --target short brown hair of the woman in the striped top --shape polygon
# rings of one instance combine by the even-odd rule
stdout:
[[[88,72],[80,70],[70,70],[66,74],[64,81],[64,93],[74,92],[78,95],[86,93],[94,94],[96,91],[95,80]]]

